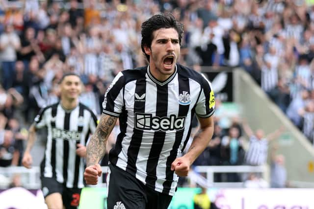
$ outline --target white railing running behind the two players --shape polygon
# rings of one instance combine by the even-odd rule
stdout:
[[[107,173],[107,166],[102,167],[103,173]],[[263,166],[248,166],[248,165],[237,165],[237,166],[195,166],[193,172],[189,173],[189,180],[199,185],[208,187],[242,187],[240,182],[214,182],[214,173],[261,173],[264,179],[268,179],[268,167]],[[205,174],[205,178],[200,175]],[[27,169],[23,166],[15,167],[0,167],[0,175],[4,175],[8,178],[12,178],[14,174],[20,174],[22,177],[23,186],[29,189],[40,188],[40,168],[32,167]],[[103,175],[99,179],[99,184],[95,187],[106,186]],[[1,184],[0,184],[1,187]],[[3,187],[3,186],[2,186]],[[94,186],[93,186],[94,187]]]

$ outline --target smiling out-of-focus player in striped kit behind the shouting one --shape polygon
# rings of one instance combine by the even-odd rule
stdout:
[[[84,187],[85,144],[96,130],[97,118],[78,102],[81,80],[74,73],[65,74],[60,81],[60,102],[42,109],[29,128],[28,142],[22,163],[30,168],[30,150],[36,131],[47,128],[45,157],[41,163],[41,184],[49,209],[76,209],[81,188]]]

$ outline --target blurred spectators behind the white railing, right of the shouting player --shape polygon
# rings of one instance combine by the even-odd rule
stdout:
[[[216,102],[218,113],[223,105]],[[278,139],[285,131],[282,126],[271,133],[262,129],[252,130],[245,118],[238,116],[215,116],[213,137],[208,146],[193,163],[197,172],[199,165],[253,165],[260,166],[270,162],[269,183],[263,179],[262,173],[214,173],[213,182],[243,182],[243,187],[267,188],[287,187],[287,170],[285,157],[277,152]],[[230,120],[230,126],[223,128],[221,120]],[[198,126],[192,129],[192,136],[198,131]],[[184,150],[185,152],[187,150]],[[268,157],[270,157],[268,159]],[[190,185],[186,179],[179,180],[183,186]]]

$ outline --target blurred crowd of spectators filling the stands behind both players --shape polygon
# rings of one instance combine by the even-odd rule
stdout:
[[[184,23],[180,63],[243,68],[313,142],[314,6],[306,0],[0,0],[0,149],[11,156],[22,149],[23,127],[58,100],[65,72],[81,76],[80,100],[100,115],[113,77],[146,65],[140,25],[159,12]],[[265,162],[246,160],[245,122],[224,129],[216,120],[208,156],[196,164]],[[262,130],[246,134],[250,147],[263,139],[259,148],[268,149]],[[8,138],[11,149],[3,143]]]

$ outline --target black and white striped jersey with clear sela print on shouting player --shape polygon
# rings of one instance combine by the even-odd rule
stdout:
[[[200,73],[176,65],[164,82],[149,67],[118,73],[105,93],[103,113],[119,117],[120,131],[109,161],[156,191],[174,195],[180,157],[196,114],[214,112],[214,94]]]

